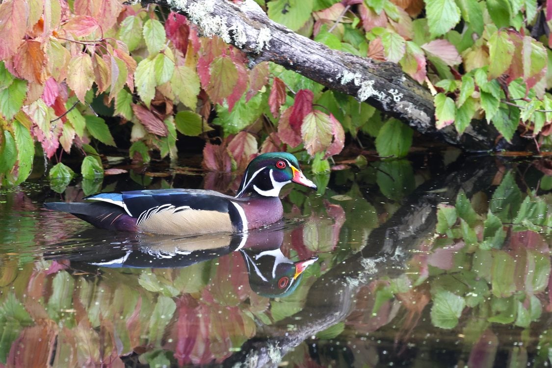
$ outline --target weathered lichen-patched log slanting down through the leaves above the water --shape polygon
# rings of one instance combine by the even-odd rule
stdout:
[[[245,52],[251,64],[272,61],[323,86],[352,95],[410,125],[421,134],[468,151],[492,150],[498,132],[482,122],[458,136],[454,126],[436,129],[433,97],[391,62],[329,49],[274,23],[253,0],[142,0],[185,15],[204,36],[219,36]]]

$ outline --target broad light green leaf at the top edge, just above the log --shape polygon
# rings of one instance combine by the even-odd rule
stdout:
[[[298,31],[311,17],[312,0],[274,0],[268,3],[268,17]]]

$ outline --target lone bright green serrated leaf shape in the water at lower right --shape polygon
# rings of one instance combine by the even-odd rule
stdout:
[[[456,327],[464,309],[464,298],[448,290],[438,290],[433,295],[431,323],[435,327],[450,329]]]

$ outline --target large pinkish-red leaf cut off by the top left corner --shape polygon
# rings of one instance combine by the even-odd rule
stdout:
[[[26,31],[29,6],[25,0],[4,1],[0,4],[0,60],[15,54]]]

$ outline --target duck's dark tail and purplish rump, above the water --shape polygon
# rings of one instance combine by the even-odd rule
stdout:
[[[136,218],[129,216],[122,207],[107,202],[47,202],[44,207],[48,210],[75,215],[102,229],[138,231]]]

